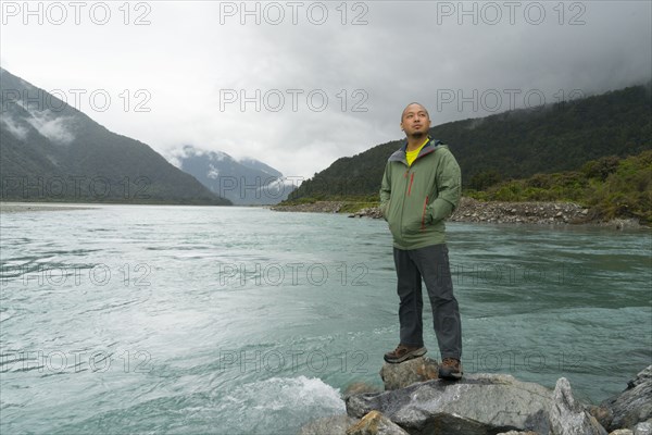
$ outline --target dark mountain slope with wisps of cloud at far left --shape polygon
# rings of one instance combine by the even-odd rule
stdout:
[[[146,144],[3,69],[0,103],[2,200],[230,204]]]

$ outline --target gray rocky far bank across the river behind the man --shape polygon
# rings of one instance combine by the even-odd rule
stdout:
[[[274,206],[275,211],[294,211],[312,213],[340,213],[346,201],[316,201],[298,206]],[[383,219],[377,207],[361,209],[350,213],[349,217]],[[600,220],[590,209],[572,202],[482,202],[473,198],[462,198],[457,210],[449,217],[450,222],[474,222],[496,224],[536,224],[536,225],[577,225],[592,224],[623,228],[640,227],[637,220],[615,219],[609,222]]]

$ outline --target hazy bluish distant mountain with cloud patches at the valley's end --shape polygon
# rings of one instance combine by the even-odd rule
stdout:
[[[225,152],[186,145],[170,160],[234,204],[276,204],[294,188],[279,171],[252,158],[237,160]]]

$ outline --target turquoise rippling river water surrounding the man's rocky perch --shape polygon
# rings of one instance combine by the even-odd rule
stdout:
[[[384,221],[92,207],[0,216],[0,433],[288,434],[381,386]],[[466,373],[599,402],[652,362],[649,229],[448,228]]]

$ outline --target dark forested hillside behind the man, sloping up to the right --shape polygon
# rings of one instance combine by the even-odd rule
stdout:
[[[576,170],[605,156],[652,149],[651,84],[538,109],[437,125],[430,136],[449,145],[465,188],[501,179]],[[432,121],[436,115],[431,113]],[[401,140],[343,157],[290,194],[290,200],[377,196],[388,157]]]

